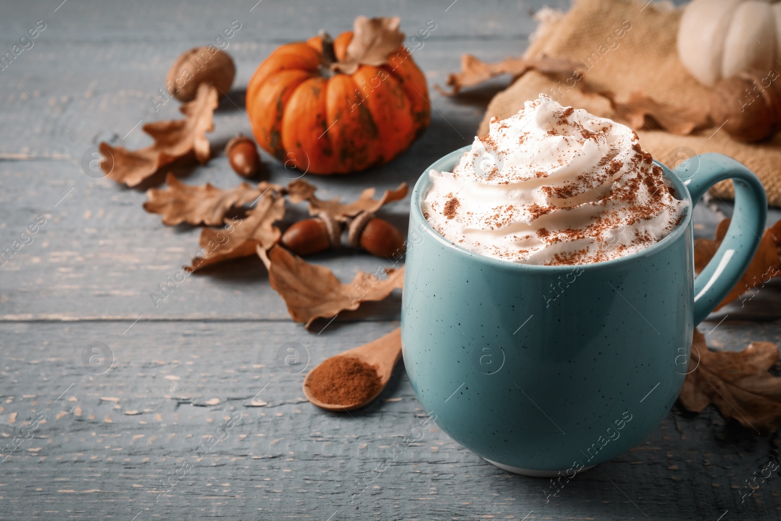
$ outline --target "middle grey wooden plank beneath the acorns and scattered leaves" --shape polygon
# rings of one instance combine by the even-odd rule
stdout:
[[[163,227],[158,216],[141,209],[143,194],[125,191],[109,180],[95,182],[83,174],[76,174],[77,184],[70,191],[69,185],[56,177],[59,162],[5,163],[0,171],[5,173],[4,185],[16,183],[17,187],[17,191],[8,191],[2,202],[15,210],[3,216],[0,249],[20,241],[20,234],[38,216],[46,219],[33,242],[20,248],[0,268],[5,273],[0,277],[0,294],[5,299],[5,305],[0,305],[0,319],[135,319],[139,315],[144,315],[144,319],[216,319],[247,316],[242,306],[255,318],[287,319],[284,302],[269,287],[266,269],[259,259],[228,262],[209,269],[208,274],[184,277],[182,266],[199,250],[199,229]],[[400,175],[396,180],[414,180],[401,170],[397,172]],[[236,177],[226,171],[220,175],[227,178],[223,186],[230,186],[231,177]],[[213,179],[207,173],[199,173],[198,177],[200,183]],[[284,174],[280,177],[284,180]],[[23,187],[19,180],[25,180]],[[320,178],[311,181],[319,186],[326,184]],[[344,180],[326,182],[331,184],[326,193],[348,192],[351,195],[346,199],[357,196],[358,188],[373,183],[362,180],[358,186],[348,186]],[[342,187],[333,186],[339,182],[344,183]],[[395,182],[384,186],[394,186]],[[98,186],[91,186],[92,183]],[[382,216],[405,234],[407,212],[408,198],[383,209]],[[291,209],[282,226],[304,216],[304,209]],[[775,216],[769,217],[769,221],[772,219]],[[695,222],[695,236],[713,237],[719,217],[700,205],[695,211]],[[326,252],[310,261],[328,266],[344,281],[351,280],[359,269],[374,272],[378,266],[393,266],[387,259],[349,251]],[[174,287],[163,302],[157,302],[150,294],[160,294],[158,285],[166,283],[168,277],[184,282]],[[751,307],[740,302],[731,305],[731,309],[740,309],[744,319],[779,318],[781,308],[776,303],[781,301],[772,287],[775,283],[759,291]],[[381,318],[389,319],[398,317],[398,298],[392,302],[370,306],[373,312],[380,312]]]

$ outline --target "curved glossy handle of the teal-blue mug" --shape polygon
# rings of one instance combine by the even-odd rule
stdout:
[[[701,323],[743,277],[757,252],[768,200],[760,180],[744,164],[723,154],[702,154],[683,161],[673,170],[696,205],[705,191],[719,181],[732,179],[735,210],[727,234],[708,266],[694,278],[694,325]]]

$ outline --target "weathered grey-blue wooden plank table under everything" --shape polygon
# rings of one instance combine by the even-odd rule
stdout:
[[[550,501],[547,480],[490,466],[436,426],[351,501],[357,480],[425,414],[403,365],[372,405],[330,414],[305,401],[305,373],[291,374],[278,355],[297,343],[311,368],[371,341],[398,326],[400,296],[308,332],[291,321],[261,262],[244,259],[187,278],[155,307],[150,291],[198,252],[198,229],[162,227],[144,212],[143,189],[152,183],[125,189],[81,167],[99,141],[145,146],[141,124],[178,117],[178,104],[155,112],[150,101],[166,70],[233,20],[241,29],[226,50],[237,80],[209,135],[216,151],[250,130],[244,86],[277,45],[321,27],[348,30],[362,13],[400,15],[408,34],[434,20],[414,58],[430,84],[443,84],[463,52],[519,55],[540,0],[60,2],[0,3],[2,54],[45,24],[33,47],[0,71],[0,248],[45,217],[33,241],[0,267],[0,442],[15,448],[0,462],[0,519],[778,519],[779,476],[750,496],[746,484],[779,458],[779,441],[726,423],[714,409],[693,415],[677,405],[646,441]],[[431,127],[400,158],[308,180],[345,199],[367,186],[412,182],[469,144],[505,84],[459,99],[432,91]],[[264,159],[270,180],[298,175]],[[221,153],[207,166],[173,170],[190,184],[239,181]],[[406,208],[399,202],[384,213],[405,230]],[[696,220],[697,234],[708,236],[718,218],[700,206]],[[316,262],[343,280],[377,265],[357,253]],[[777,342],[779,295],[776,285],[765,287],[701,330],[712,330],[718,348]],[[95,347],[106,358],[91,366]]]

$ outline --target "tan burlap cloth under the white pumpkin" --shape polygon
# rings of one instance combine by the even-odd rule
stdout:
[[[583,62],[587,84],[612,89],[619,100],[626,100],[633,91],[641,90],[658,102],[674,106],[697,104],[707,109],[710,90],[697,83],[678,59],[676,35],[681,9],[666,3],[645,5],[645,2],[575,0],[563,15],[545,9],[539,13],[543,21],[524,58],[547,55]],[[631,28],[623,37],[616,38],[615,30],[627,27],[627,22]],[[566,79],[558,83],[558,79],[530,72],[491,100],[478,135],[488,133],[492,116],[500,119],[512,116],[522,109],[526,100],[551,92],[556,93],[555,98],[562,105],[618,119],[607,98],[584,94],[577,85],[569,88]],[[689,136],[676,136],[658,128],[646,128],[637,134],[644,150],[668,166],[674,166],[680,159],[671,157],[679,147],[690,148],[697,154],[729,155],[757,174],[768,192],[770,205],[781,206],[781,135],[761,145],[745,145],[734,141],[724,130],[715,130],[711,127]],[[733,198],[732,182],[716,185],[713,192],[721,198]]]

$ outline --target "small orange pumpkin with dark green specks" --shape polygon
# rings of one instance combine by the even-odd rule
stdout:
[[[390,161],[428,127],[426,77],[404,46],[383,66],[331,73],[330,62],[344,60],[352,37],[283,45],[255,70],[247,87],[252,132],[285,166],[363,170]]]

